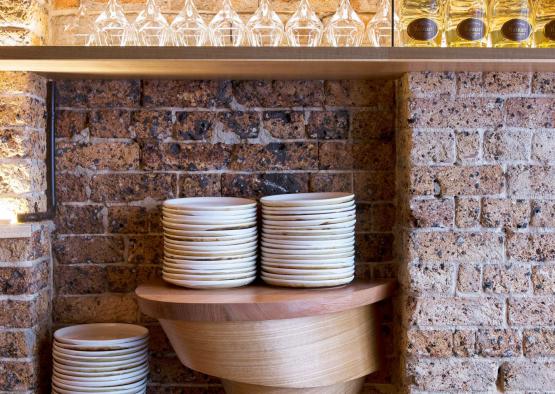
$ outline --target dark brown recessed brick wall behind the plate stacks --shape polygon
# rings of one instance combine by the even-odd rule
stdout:
[[[153,334],[152,392],[219,390],[214,379],[181,366],[133,296],[138,284],[159,275],[159,208],[173,197],[354,191],[358,275],[395,276],[394,87],[393,81],[59,82],[55,324],[146,324]],[[385,324],[388,342],[391,331]],[[385,351],[398,353],[392,345]],[[369,384],[390,387],[391,370]]]

